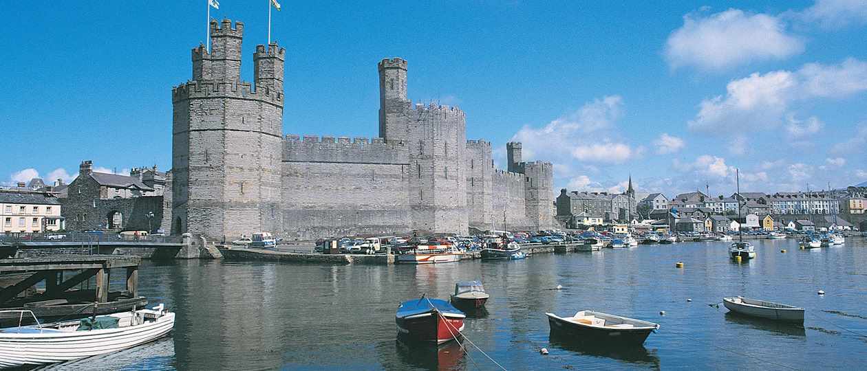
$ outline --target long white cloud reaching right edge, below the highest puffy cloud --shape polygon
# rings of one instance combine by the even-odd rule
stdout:
[[[864,91],[867,62],[852,58],[838,65],[811,63],[797,72],[756,73],[730,81],[725,95],[704,99],[688,126],[728,136],[755,128],[770,129],[782,122],[793,102]]]

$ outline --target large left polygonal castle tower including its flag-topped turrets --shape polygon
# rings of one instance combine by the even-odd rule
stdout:
[[[173,103],[173,233],[231,240],[280,226],[285,49],[258,46],[256,86],[240,79],[244,23],[211,22],[211,53]]]

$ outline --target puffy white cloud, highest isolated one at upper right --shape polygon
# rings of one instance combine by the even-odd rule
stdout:
[[[804,51],[804,42],[786,32],[777,16],[729,9],[683,16],[668,35],[665,57],[673,67],[721,70],[750,61],[782,60]]]

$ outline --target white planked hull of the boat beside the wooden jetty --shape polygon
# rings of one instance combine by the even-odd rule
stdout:
[[[166,336],[174,326],[174,313],[153,323],[119,329],[52,333],[0,334],[0,368],[44,365],[105,355]]]

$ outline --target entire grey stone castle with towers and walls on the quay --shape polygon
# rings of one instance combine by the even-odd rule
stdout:
[[[192,49],[192,80],[173,101],[172,233],[230,240],[353,234],[467,233],[552,227],[551,163],[508,169],[491,144],[466,140],[457,107],[407,99],[407,61],[380,61],[379,138],[283,136],[285,49],[258,45],[240,79],[244,23],[211,22]]]

